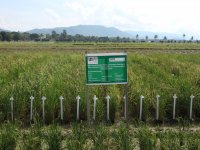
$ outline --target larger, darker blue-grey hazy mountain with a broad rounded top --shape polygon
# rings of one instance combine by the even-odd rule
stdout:
[[[51,29],[33,29],[27,31],[29,33],[38,33],[38,34],[51,34],[52,31],[56,31],[57,33],[62,33],[63,30],[67,31],[69,35],[81,34],[85,36],[108,36],[108,37],[132,37],[131,34],[120,31],[114,27],[104,27],[99,25],[78,25],[71,27],[57,27]]]

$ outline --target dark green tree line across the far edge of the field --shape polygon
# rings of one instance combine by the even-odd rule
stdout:
[[[190,40],[185,40],[185,34],[183,34],[183,40],[172,40],[168,39],[166,36],[163,38],[158,38],[158,35],[155,35],[153,39],[150,39],[148,36],[145,36],[144,39],[140,39],[137,34],[134,39],[128,37],[97,37],[97,36],[84,36],[80,34],[68,35],[66,30],[63,30],[62,33],[57,33],[52,31],[51,34],[37,34],[37,33],[27,33],[27,32],[0,32],[0,41],[68,41],[68,42],[197,42],[199,40],[194,40],[193,36]]]

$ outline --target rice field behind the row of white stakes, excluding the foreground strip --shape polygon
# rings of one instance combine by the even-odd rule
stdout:
[[[128,97],[130,119],[139,116],[139,98],[143,95],[145,121],[155,120],[156,95],[160,97],[161,121],[172,119],[172,96],[177,94],[176,116],[189,117],[190,95],[195,95],[193,118],[200,119],[200,54],[198,44],[156,43],[1,43],[0,44],[0,121],[10,120],[10,97],[14,97],[14,118],[29,122],[30,96],[34,96],[34,117],[41,119],[41,98],[46,96],[45,122],[59,121],[59,97],[64,97],[64,121],[76,119],[76,96],[80,95],[80,119],[86,120],[85,51],[128,50]],[[103,48],[102,48],[103,47]],[[130,49],[136,50],[129,51]],[[140,49],[152,49],[152,53]],[[176,54],[175,49],[186,49],[188,54]],[[170,50],[162,54],[154,49]],[[83,51],[81,51],[83,50]],[[123,51],[123,50],[122,50]],[[109,51],[111,52],[111,51]],[[140,52],[140,53],[138,53]],[[123,85],[92,86],[92,97],[97,95],[97,121],[106,118],[105,96],[109,94],[110,119],[123,116]],[[91,110],[92,111],[92,110]]]

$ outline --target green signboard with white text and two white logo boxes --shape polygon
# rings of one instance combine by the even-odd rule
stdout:
[[[127,53],[86,54],[86,84],[127,84]]]

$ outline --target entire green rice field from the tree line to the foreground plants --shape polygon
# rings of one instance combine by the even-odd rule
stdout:
[[[88,125],[85,53],[124,51],[128,53],[129,121],[124,123],[124,85],[90,86],[91,114],[93,96],[98,100],[96,121]],[[160,95],[159,121],[155,121],[157,94]],[[172,119],[174,94],[178,97],[176,120]],[[191,94],[195,96],[193,121],[189,120]],[[76,122],[77,95],[81,97],[80,122]],[[106,121],[106,95],[111,97],[110,122]],[[142,121],[139,121],[141,95],[144,100]],[[34,96],[32,121],[30,96]],[[44,120],[42,96],[46,97]],[[10,97],[14,98],[14,122],[11,122]],[[0,43],[2,150],[196,150],[200,149],[199,109],[199,44]]]

